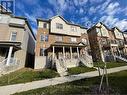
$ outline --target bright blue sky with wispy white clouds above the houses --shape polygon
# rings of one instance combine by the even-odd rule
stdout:
[[[86,28],[103,22],[127,30],[127,0],[15,0],[15,5],[15,15],[27,17],[35,34],[37,18],[55,15]]]

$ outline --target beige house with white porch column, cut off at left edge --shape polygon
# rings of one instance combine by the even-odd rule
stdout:
[[[8,73],[34,62],[35,36],[24,17],[0,13],[0,72]]]

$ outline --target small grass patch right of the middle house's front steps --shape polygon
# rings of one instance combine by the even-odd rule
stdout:
[[[94,68],[88,68],[86,66],[73,67],[73,68],[68,69],[68,74],[69,75],[74,75],[74,74],[80,74],[80,73],[95,71],[95,70],[96,69],[94,69]]]

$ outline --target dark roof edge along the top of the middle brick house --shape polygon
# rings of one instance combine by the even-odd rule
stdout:
[[[64,19],[62,16],[60,16],[60,15],[53,16],[53,17],[51,17],[51,18],[49,18],[49,19],[41,19],[41,18],[39,18],[39,19],[37,19],[37,23],[38,23],[38,21],[50,22],[50,21],[52,21],[52,19],[54,19],[54,18],[56,18],[56,17],[60,17],[60,18],[61,18],[63,21],[65,21],[65,23],[68,24],[68,25],[74,25],[74,26],[78,26],[78,27],[83,28],[83,29],[87,29],[87,28],[85,28],[85,27],[83,27],[83,26],[81,26],[81,25],[79,25],[79,24],[73,24],[73,23],[68,22],[67,20],[65,20],[65,19]]]

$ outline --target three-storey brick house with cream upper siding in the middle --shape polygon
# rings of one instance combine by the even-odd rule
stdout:
[[[66,68],[76,67],[80,58],[92,63],[86,28],[69,23],[62,16],[37,19],[37,24],[35,69],[54,67],[55,62]]]

